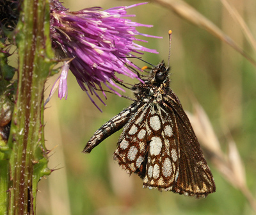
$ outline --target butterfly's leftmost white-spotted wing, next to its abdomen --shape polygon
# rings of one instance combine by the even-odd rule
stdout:
[[[148,104],[141,106],[132,116],[118,139],[114,159],[127,171],[137,173],[141,178],[145,176],[145,164],[147,164],[147,129],[146,120],[150,108]]]

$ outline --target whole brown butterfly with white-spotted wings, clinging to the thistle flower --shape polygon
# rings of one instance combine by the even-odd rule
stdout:
[[[143,187],[206,197],[216,191],[214,179],[188,116],[170,88],[169,70],[162,61],[143,83],[134,84],[135,102],[104,123],[83,152],[90,153],[123,128],[113,157],[127,173],[138,174]]]

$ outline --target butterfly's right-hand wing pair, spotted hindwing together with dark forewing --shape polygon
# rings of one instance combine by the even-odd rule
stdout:
[[[211,171],[183,109],[178,104],[156,106],[158,110],[152,108],[147,122],[149,148],[143,187],[198,198],[213,193]]]

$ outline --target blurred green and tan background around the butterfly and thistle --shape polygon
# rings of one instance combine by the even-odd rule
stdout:
[[[186,2],[255,58],[255,50],[221,1]],[[256,35],[256,1],[229,2]],[[70,10],[92,6],[101,6],[105,10],[114,6],[129,6],[138,1],[65,0],[64,3]],[[168,30],[172,29],[171,88],[185,110],[193,110],[189,97],[195,96],[209,116],[225,153],[228,153],[226,131],[227,128],[230,130],[245,166],[246,182],[250,192],[256,196],[255,67],[218,38],[163,6],[149,3],[127,12],[136,14],[131,18],[133,21],[154,25],[153,28],[138,28],[138,31],[163,36],[163,39],[146,38],[148,43],[142,44],[159,51],[159,54],[145,53],[142,56],[143,60],[154,65],[161,60],[168,61]],[[142,61],[132,61],[140,67],[145,65]],[[56,78],[49,79],[46,95],[49,95]],[[216,182],[216,193],[197,200],[172,192],[142,189],[142,180],[137,175],[129,176],[113,161],[112,154],[120,132],[100,143],[91,154],[82,154],[93,132],[129,106],[131,101],[108,95],[105,107],[95,99],[103,110],[100,113],[71,73],[68,74],[68,99],[59,100],[57,94],[49,102],[49,108],[45,109],[45,139],[47,148],[51,150],[49,167],[58,170],[39,183],[38,215],[255,214],[241,191],[225,180],[207,157]]]

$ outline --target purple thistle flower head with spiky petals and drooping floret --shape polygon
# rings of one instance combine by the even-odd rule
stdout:
[[[127,56],[143,54],[141,51],[158,53],[156,50],[147,49],[133,41],[143,41],[135,38],[136,35],[159,38],[157,36],[144,35],[136,31],[137,26],[152,27],[139,24],[124,17],[126,10],[141,4],[131,6],[120,6],[101,11],[99,7],[86,8],[77,12],[69,12],[58,0],[52,0],[51,4],[51,39],[52,47],[61,59],[68,59],[64,63],[61,75],[52,87],[52,93],[59,88],[59,97],[67,99],[67,73],[70,69],[76,76],[77,83],[93,101],[93,93],[100,99],[95,90],[101,90],[104,97],[106,94],[102,89],[102,83],[109,90],[120,95],[112,86],[122,90],[115,84],[115,72],[131,78],[138,78],[137,74],[129,68],[138,69]],[[71,60],[70,60],[71,59]],[[109,83],[109,84],[108,84]],[[124,91],[124,90],[122,90]],[[95,106],[97,106],[95,104]],[[97,108],[99,108],[97,106]]]

